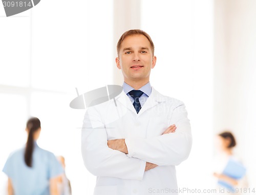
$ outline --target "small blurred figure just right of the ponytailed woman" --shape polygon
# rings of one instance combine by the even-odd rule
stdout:
[[[59,182],[58,182],[59,194],[60,195],[71,195],[72,191],[71,191],[70,181],[67,178],[66,172],[65,172],[65,168],[66,168],[65,158],[62,156],[58,156],[57,159],[61,163],[61,165],[64,169],[64,172],[61,175],[61,177],[59,178]]]

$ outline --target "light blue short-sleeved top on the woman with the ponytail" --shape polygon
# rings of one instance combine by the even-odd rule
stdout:
[[[14,151],[3,171],[11,179],[15,195],[49,195],[49,180],[64,170],[50,151],[41,149],[36,142],[32,155],[32,167],[24,160],[25,148]]]

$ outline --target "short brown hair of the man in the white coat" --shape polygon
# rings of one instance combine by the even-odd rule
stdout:
[[[155,51],[155,46],[154,46],[154,43],[150,37],[150,35],[148,35],[145,31],[143,30],[140,30],[140,29],[134,29],[134,30],[129,30],[129,31],[126,31],[122,34],[122,36],[119,38],[118,42],[117,42],[117,46],[116,46],[116,49],[117,49],[117,55],[119,56],[119,51],[120,51],[120,47],[121,47],[121,44],[122,44],[122,41],[127,37],[127,36],[132,36],[132,35],[144,35],[148,41],[150,41],[150,45],[151,45],[151,49],[152,49],[152,53],[154,55],[154,51]]]

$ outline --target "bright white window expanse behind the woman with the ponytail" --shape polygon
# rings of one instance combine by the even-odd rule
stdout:
[[[38,145],[66,158],[73,194],[92,194],[95,177],[83,165],[85,111],[70,101],[112,83],[113,1],[41,1],[11,17],[0,6],[0,169],[26,142],[29,116],[41,120]],[[7,177],[0,172],[0,194]]]

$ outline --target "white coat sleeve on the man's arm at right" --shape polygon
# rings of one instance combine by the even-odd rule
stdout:
[[[180,102],[174,106],[169,125],[177,126],[175,133],[152,138],[131,137],[125,139],[128,156],[139,158],[159,166],[178,165],[188,158],[192,138],[190,123],[185,105]]]

